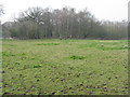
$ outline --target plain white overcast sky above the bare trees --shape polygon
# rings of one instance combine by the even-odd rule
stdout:
[[[108,20],[128,19],[129,0],[0,0],[4,6],[2,23],[12,20],[18,12],[31,6],[61,9],[72,6],[76,10],[87,8],[96,18]]]

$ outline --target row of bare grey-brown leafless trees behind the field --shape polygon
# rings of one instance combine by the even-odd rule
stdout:
[[[87,9],[29,8],[2,25],[3,38],[127,39],[128,23],[99,20]]]

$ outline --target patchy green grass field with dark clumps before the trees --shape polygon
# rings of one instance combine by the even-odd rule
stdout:
[[[127,95],[127,40],[3,40],[3,94]]]

